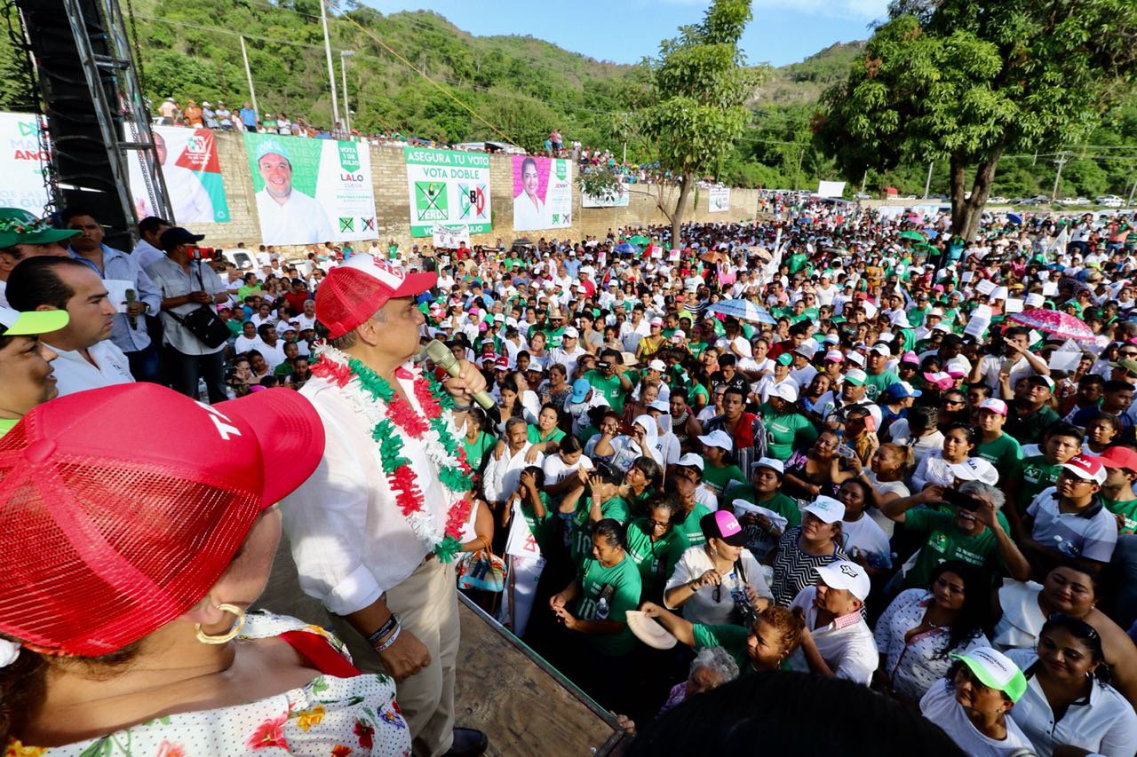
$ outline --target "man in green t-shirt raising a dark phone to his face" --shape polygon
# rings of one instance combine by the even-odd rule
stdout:
[[[991,585],[1004,569],[1015,581],[1026,581],[1030,564],[1011,539],[1011,526],[999,511],[1003,492],[990,484],[968,481],[955,492],[969,496],[965,501],[974,509],[956,505],[952,513],[927,507],[944,502],[944,489],[932,484],[912,497],[883,502],[880,508],[893,521],[903,523],[906,533],[926,539],[915,565],[904,574],[904,588],[927,588],[932,568],[945,560],[963,560],[982,568]]]

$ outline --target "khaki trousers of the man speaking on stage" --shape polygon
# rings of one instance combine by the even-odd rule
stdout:
[[[458,658],[458,590],[454,563],[425,560],[387,592],[387,606],[430,651],[430,665],[396,684],[396,700],[410,726],[413,754],[437,757],[454,741],[454,673]],[[335,632],[356,667],[385,673],[379,656],[346,618],[332,615]]]

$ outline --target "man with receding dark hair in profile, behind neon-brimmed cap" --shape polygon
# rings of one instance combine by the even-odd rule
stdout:
[[[8,299],[16,310],[47,307],[69,316],[66,326],[41,336],[59,356],[52,367],[60,397],[134,381],[130,361],[110,341],[118,310],[90,267],[73,258],[41,256],[16,266],[8,284]],[[59,291],[69,291],[70,297],[53,300],[52,293]]]

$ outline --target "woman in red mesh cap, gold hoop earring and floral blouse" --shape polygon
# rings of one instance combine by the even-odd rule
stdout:
[[[0,439],[5,754],[407,754],[390,679],[249,612],[274,504],[323,449],[288,390],[207,407],[135,383],[27,413]]]

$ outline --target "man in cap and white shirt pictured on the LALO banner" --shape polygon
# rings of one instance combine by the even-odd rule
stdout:
[[[292,186],[292,160],[281,140],[265,140],[256,150],[257,170],[265,182],[257,192],[265,244],[316,244],[335,239],[324,206]]]

